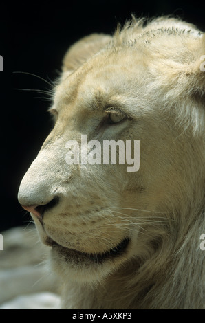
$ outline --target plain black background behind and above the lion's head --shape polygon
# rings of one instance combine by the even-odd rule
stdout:
[[[93,32],[112,34],[116,25],[141,16],[172,14],[205,29],[202,1],[42,1],[0,5],[1,211],[0,232],[30,219],[17,201],[19,183],[47,137],[50,102],[36,91],[61,70],[69,45]],[[205,53],[204,53],[205,54]],[[44,95],[44,97],[47,95]]]

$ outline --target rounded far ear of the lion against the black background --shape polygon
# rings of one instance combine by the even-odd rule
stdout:
[[[91,56],[109,44],[111,36],[105,34],[91,34],[72,45],[63,58],[62,71],[75,71]]]

